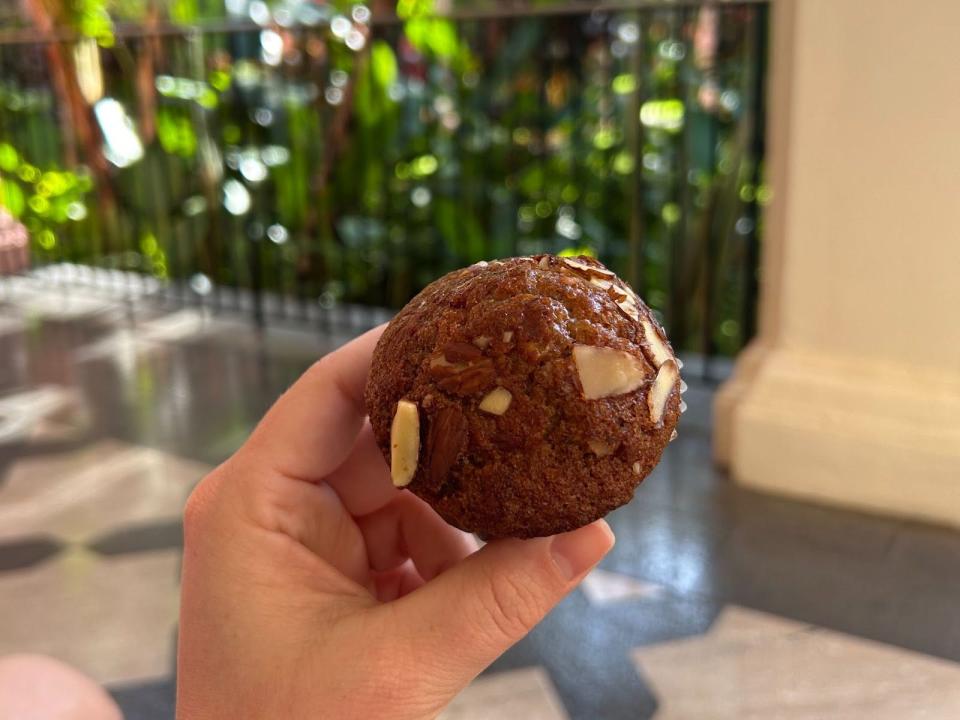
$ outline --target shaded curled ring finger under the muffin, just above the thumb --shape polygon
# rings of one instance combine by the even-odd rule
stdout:
[[[367,545],[370,568],[384,571],[408,558],[431,580],[477,549],[471,535],[447,525],[415,495],[403,492],[372,515],[356,520]]]

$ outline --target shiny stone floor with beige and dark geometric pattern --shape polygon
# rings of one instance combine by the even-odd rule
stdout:
[[[0,291],[0,655],[171,717],[184,498],[350,332]],[[960,535],[730,484],[695,364],[611,555],[443,717],[960,717]]]

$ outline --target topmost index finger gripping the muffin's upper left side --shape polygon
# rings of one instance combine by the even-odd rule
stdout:
[[[366,414],[363,389],[383,328],[314,363],[277,400],[239,454],[299,480],[319,480],[339,466]]]

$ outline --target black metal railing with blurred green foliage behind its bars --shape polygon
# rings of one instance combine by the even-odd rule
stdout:
[[[0,36],[0,203],[39,277],[327,322],[482,258],[590,251],[680,347],[749,339],[765,4],[260,6]]]

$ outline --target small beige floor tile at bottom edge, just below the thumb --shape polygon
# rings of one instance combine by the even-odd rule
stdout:
[[[543,668],[521,668],[474,680],[438,720],[566,720],[567,714]]]

